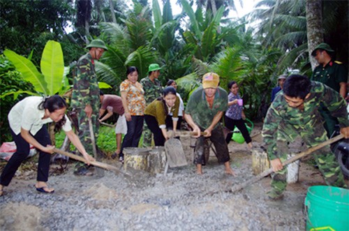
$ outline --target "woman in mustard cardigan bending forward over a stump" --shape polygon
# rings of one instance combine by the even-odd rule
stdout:
[[[154,134],[156,146],[164,146],[165,140],[169,138],[165,124],[168,114],[172,114],[173,130],[176,131],[179,104],[176,89],[166,87],[163,89],[163,96],[154,100],[145,108],[144,119],[151,133]]]

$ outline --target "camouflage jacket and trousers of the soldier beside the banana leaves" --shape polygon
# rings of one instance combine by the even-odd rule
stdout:
[[[101,104],[99,98],[99,87],[97,82],[96,70],[94,69],[94,59],[89,53],[84,54],[77,61],[76,75],[74,77],[73,94],[71,98],[71,107],[77,112],[79,138],[88,154],[93,156],[91,134],[89,132],[89,118],[84,112],[86,105],[91,105],[91,120],[94,126],[94,137],[98,137],[98,113]],[[96,157],[96,156],[94,156]],[[76,167],[84,165],[78,163]]]

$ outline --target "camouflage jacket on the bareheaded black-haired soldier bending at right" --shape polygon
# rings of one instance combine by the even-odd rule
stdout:
[[[309,98],[304,100],[304,110],[289,107],[281,91],[270,105],[265,117],[262,135],[267,146],[270,159],[276,158],[276,138],[278,130],[288,124],[294,128],[293,133],[309,132],[318,126],[323,126],[322,117],[318,112],[320,103],[323,103],[333,117],[339,121],[341,128],[349,126],[346,101],[333,89],[320,82],[311,82],[312,87]],[[292,131],[285,131],[292,133]]]

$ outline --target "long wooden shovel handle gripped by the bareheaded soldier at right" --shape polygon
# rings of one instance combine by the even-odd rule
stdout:
[[[316,151],[318,149],[321,149],[322,147],[325,147],[328,144],[332,144],[338,140],[341,140],[344,136],[343,135],[337,135],[336,137],[333,137],[332,139],[329,139],[325,142],[322,142],[321,144],[318,144],[314,147],[311,147],[310,149],[306,149],[306,151],[302,151],[300,154],[297,154],[297,156],[293,156],[292,158],[289,158],[288,160],[283,162],[283,166],[288,165],[292,162],[295,162],[302,158],[303,156],[307,156],[311,154],[313,151]],[[257,176],[248,179],[247,181],[244,181],[242,184],[238,184],[236,186],[232,186],[231,192],[235,193],[237,191],[240,191],[242,188],[245,188],[246,186],[249,186],[257,181],[260,181],[260,179],[263,179],[264,177],[267,177],[269,174],[273,172],[272,167],[269,168],[269,170],[265,170],[264,172],[261,172]]]

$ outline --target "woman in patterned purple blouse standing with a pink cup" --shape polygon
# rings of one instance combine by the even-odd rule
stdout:
[[[244,119],[246,119],[246,116],[242,106],[242,98],[239,96],[239,86],[237,86],[237,82],[229,82],[228,89],[230,90],[230,94],[228,95],[228,110],[224,115],[225,127],[228,128],[229,131],[232,131],[234,127],[237,126],[246,144],[251,149],[252,140],[245,125]],[[227,142],[227,144],[229,144],[230,140],[232,140],[232,133],[228,133],[227,137],[225,137],[225,142]]]

